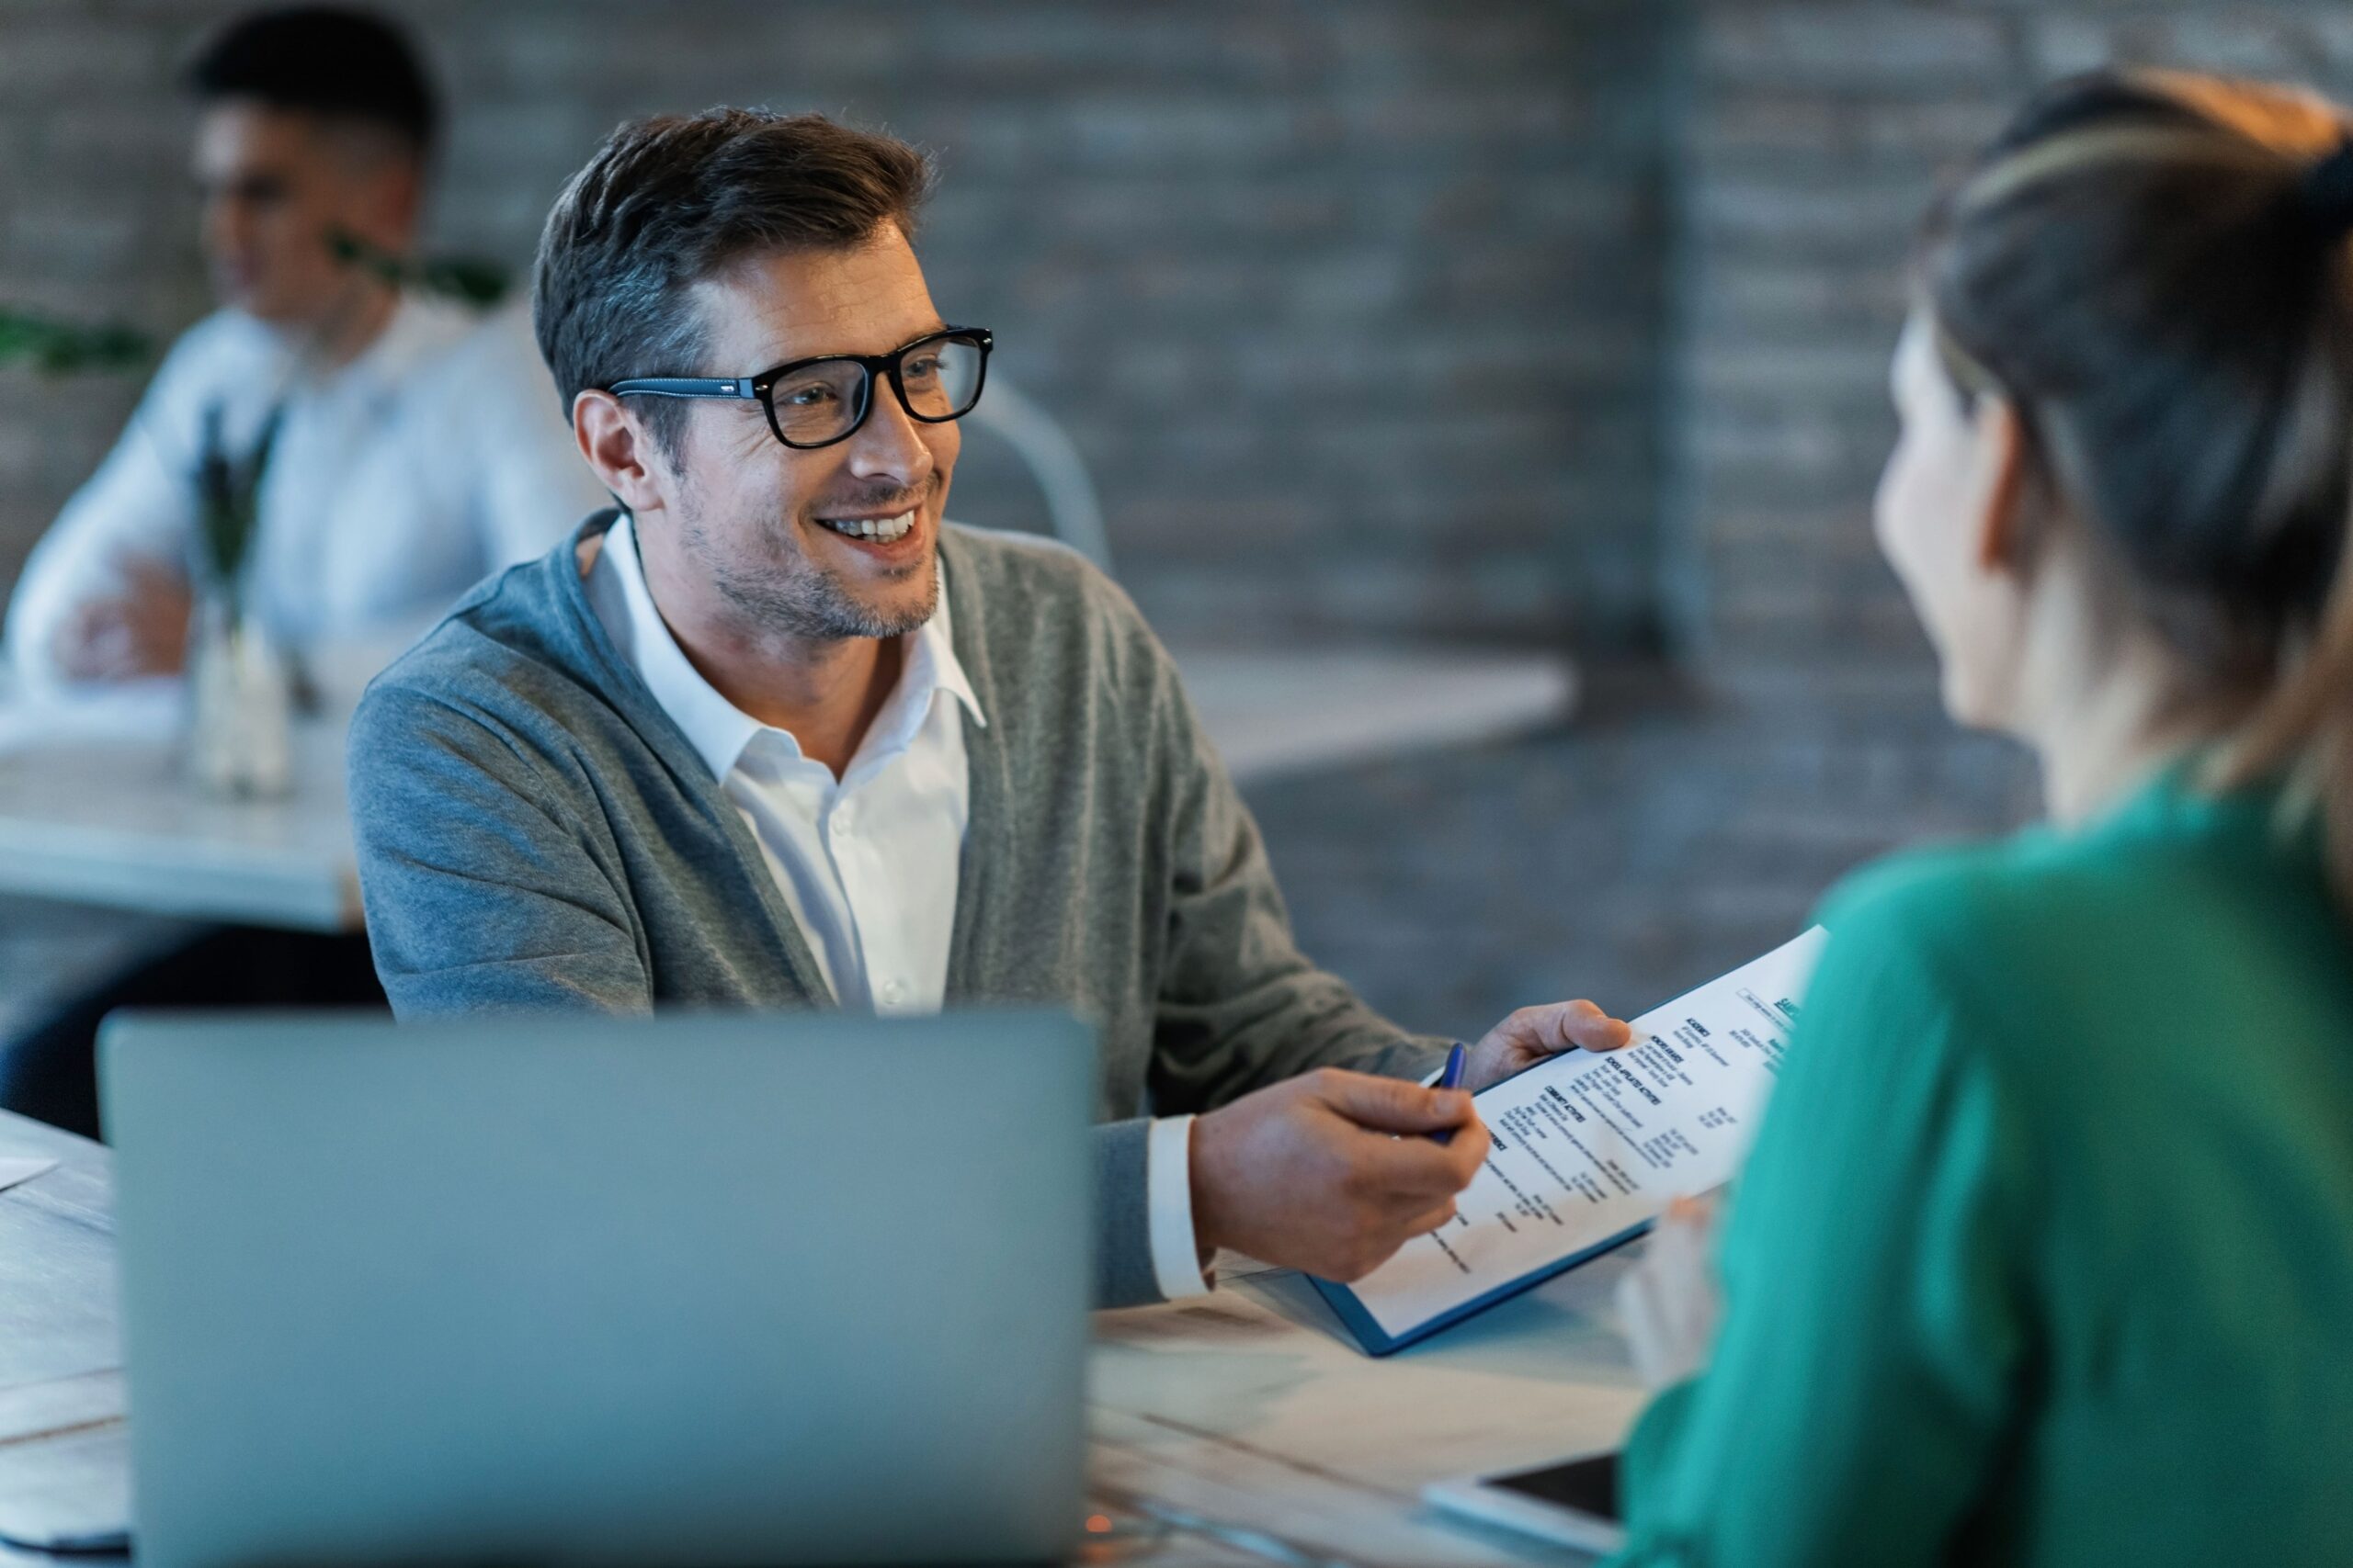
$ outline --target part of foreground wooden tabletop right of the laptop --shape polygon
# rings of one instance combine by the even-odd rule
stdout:
[[[1153,1563],[1586,1561],[1442,1521],[1421,1488],[1624,1439],[1642,1392],[1609,1295],[1633,1255],[1619,1248],[1386,1361],[1358,1352],[1299,1274],[1259,1265],[1202,1302],[1099,1314],[1094,1495],[1193,1523]],[[1193,1556],[1235,1528],[1268,1544]]]

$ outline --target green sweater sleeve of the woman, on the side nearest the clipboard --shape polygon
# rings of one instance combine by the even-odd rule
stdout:
[[[1626,1450],[1628,1566],[1948,1561],[2031,1352],[2000,1027],[1906,931],[1838,919],[1722,1248],[1711,1366]]]

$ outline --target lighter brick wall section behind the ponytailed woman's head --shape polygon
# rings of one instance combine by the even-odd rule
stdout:
[[[2108,61],[2353,89],[2341,5],[1711,0],[1682,122],[1678,618],[1777,710],[1918,712],[1927,649],[1871,545],[1887,357],[1939,172]]]

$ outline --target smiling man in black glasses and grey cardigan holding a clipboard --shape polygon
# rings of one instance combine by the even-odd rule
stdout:
[[[558,197],[539,343],[621,510],[360,708],[376,969],[402,1018],[1068,1006],[1104,1046],[1101,1302],[1198,1293],[1217,1246],[1355,1279],[1487,1135],[1409,1081],[1442,1041],[1292,945],[1118,588],[944,522],[991,336],[925,287],[927,186],[892,139],[711,110],[624,125]],[[1527,1009],[1466,1086],[1624,1039]]]

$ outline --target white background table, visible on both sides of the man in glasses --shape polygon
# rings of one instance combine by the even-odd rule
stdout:
[[[1179,663],[1245,783],[1511,736],[1565,719],[1577,696],[1553,656],[1188,649]],[[212,799],[174,741],[125,738],[169,724],[167,705],[129,703],[45,738],[0,715],[0,893],[358,931],[341,722],[296,726],[294,792],[278,802]]]

